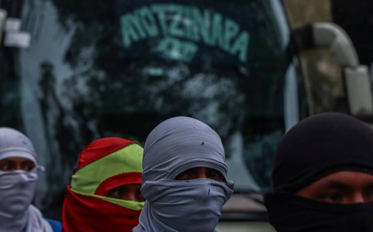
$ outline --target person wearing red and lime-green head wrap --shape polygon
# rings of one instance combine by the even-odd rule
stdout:
[[[67,188],[63,231],[132,231],[145,201],[142,153],[137,142],[115,137],[87,145]]]

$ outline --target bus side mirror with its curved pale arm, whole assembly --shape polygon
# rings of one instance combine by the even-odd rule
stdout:
[[[299,49],[326,47],[336,55],[343,70],[349,113],[357,117],[373,116],[373,94],[369,69],[359,65],[350,37],[337,24],[319,22],[294,30]]]

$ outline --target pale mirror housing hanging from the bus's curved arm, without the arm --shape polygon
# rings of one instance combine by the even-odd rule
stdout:
[[[343,70],[351,115],[373,115],[372,83],[368,70],[368,67],[365,65],[359,65],[355,68],[346,67]]]

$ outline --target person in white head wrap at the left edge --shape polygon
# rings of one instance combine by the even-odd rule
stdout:
[[[21,132],[0,127],[0,232],[52,232],[31,204],[37,170],[36,153]]]

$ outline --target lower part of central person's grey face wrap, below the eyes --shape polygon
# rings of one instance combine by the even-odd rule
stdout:
[[[225,183],[211,179],[146,182],[141,190],[147,199],[144,207],[152,212],[146,226],[170,232],[215,231],[221,207],[233,193]],[[186,218],[193,223],[186,225]]]

